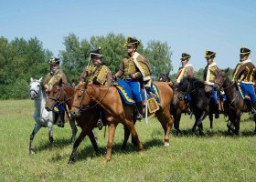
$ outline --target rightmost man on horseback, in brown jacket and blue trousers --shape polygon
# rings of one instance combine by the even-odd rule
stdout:
[[[251,50],[242,46],[240,48],[240,63],[236,66],[233,72],[233,80],[238,82],[238,85],[251,97],[253,114],[256,113],[256,96],[253,89],[255,66],[251,63],[248,57],[251,55]]]

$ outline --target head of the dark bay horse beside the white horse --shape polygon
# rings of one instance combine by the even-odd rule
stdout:
[[[64,100],[64,90],[62,84],[62,78],[60,78],[59,82],[56,82],[49,91],[45,106],[48,111],[52,111],[55,106],[61,104],[61,102]]]

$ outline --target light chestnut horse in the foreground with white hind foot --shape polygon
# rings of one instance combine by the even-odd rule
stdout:
[[[164,82],[155,82],[158,87],[160,102],[162,108],[155,113],[158,120],[165,131],[165,146],[169,146],[169,133],[173,126],[174,119],[170,115],[170,103],[173,98],[172,88]],[[105,161],[111,159],[112,142],[115,133],[115,128],[119,123],[126,126],[132,133],[134,141],[140,148],[140,154],[143,153],[143,145],[141,144],[136,130],[133,125],[134,107],[126,105],[122,97],[114,86],[96,86],[92,84],[83,83],[76,87],[74,95],[74,103],[71,107],[71,114],[73,116],[80,116],[80,110],[85,106],[101,106],[103,113],[108,121],[109,138],[107,145],[107,155]],[[74,155],[74,151],[72,152]],[[70,160],[72,158],[70,157]]]

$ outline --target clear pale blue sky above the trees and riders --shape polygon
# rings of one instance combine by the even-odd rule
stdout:
[[[207,66],[207,49],[216,52],[219,68],[235,68],[242,46],[251,49],[256,65],[255,8],[255,0],[0,0],[0,36],[37,37],[58,56],[70,33],[90,40],[113,32],[144,45],[166,42],[173,53],[171,74],[183,52],[195,70]]]

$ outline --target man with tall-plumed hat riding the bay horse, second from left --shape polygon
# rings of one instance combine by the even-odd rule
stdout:
[[[112,73],[108,66],[102,63],[101,47],[90,52],[90,59],[92,64],[86,66],[80,75],[80,83],[88,80],[88,83],[99,85],[99,86],[111,86],[112,85]],[[102,122],[102,110],[100,106],[95,107],[95,111],[99,111],[99,119],[97,126],[101,130],[103,126]]]

